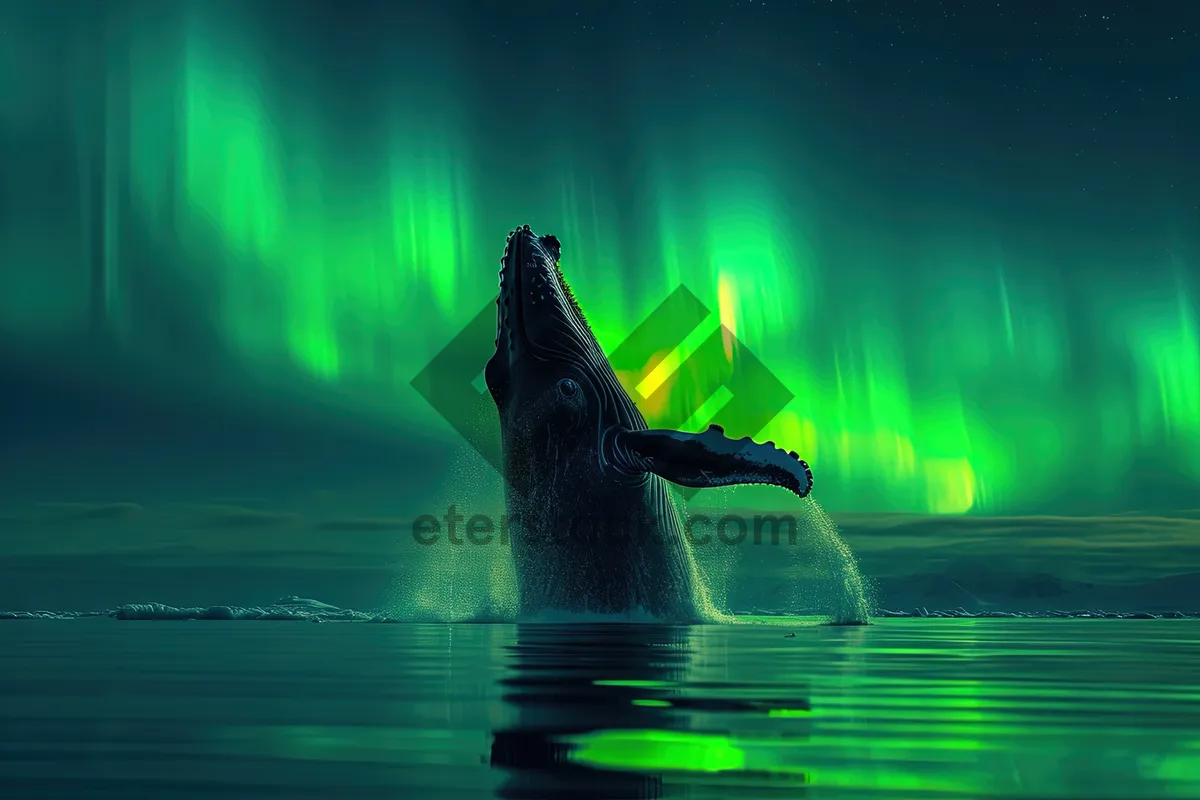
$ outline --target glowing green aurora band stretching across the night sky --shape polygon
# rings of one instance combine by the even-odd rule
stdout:
[[[848,218],[752,86],[736,121],[718,103],[660,121],[634,91],[620,137],[592,133],[602,108],[534,109],[514,142],[486,133],[450,35],[397,31],[349,92],[235,6],[122,8],[44,29],[26,10],[0,55],[4,174],[22,176],[0,185],[0,333],[30,349],[98,327],[176,374],[164,342],[191,315],[263,392],[456,441],[409,381],[528,222],[562,239],[608,349],[680,283],[713,308],[688,342],[724,323],[794,392],[761,435],[803,453],[832,510],[1121,506],[1138,468],[1200,481],[1200,263],[1177,241],[1063,255],[986,221]],[[1048,267],[1063,258],[1130,277],[1072,283]],[[167,294],[193,300],[170,319]],[[209,389],[257,391],[228,381]],[[642,405],[653,425],[704,401],[698,428],[720,398]]]

